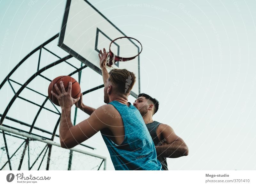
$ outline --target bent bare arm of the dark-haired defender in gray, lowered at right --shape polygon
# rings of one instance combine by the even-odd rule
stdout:
[[[172,127],[161,123],[157,130],[161,135],[160,142],[162,142],[162,145],[156,146],[157,155],[166,158],[179,158],[188,155],[188,146],[174,133]]]

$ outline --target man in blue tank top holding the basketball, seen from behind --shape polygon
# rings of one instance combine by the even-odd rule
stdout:
[[[106,56],[106,53],[102,53],[100,59]],[[131,83],[127,86],[128,78]],[[138,109],[128,102],[135,78],[126,69],[111,70],[104,82],[104,102],[107,104],[92,109],[90,117],[75,126],[70,118],[71,107],[82,96],[77,99],[71,97],[71,82],[67,92],[62,81],[61,90],[55,84],[57,93],[51,92],[61,107],[61,147],[72,148],[100,131],[116,170],[161,170],[161,163],[156,159],[156,149],[143,118]]]

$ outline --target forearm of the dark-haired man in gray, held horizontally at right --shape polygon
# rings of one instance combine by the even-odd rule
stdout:
[[[156,154],[166,158],[179,158],[188,155],[188,147],[183,141],[174,141],[171,144],[156,146]]]

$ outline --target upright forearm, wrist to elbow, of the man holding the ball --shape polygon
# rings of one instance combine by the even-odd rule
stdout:
[[[70,115],[71,115],[71,108],[61,108],[60,145],[63,148],[67,148],[65,141],[69,138],[70,128],[73,127]]]

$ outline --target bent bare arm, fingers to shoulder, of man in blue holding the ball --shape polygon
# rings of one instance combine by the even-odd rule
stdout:
[[[60,145],[63,148],[72,148],[86,139],[92,137],[101,129],[107,127],[103,123],[103,114],[102,108],[96,109],[91,116],[73,126],[70,118],[71,107],[75,104],[80,98],[74,99],[71,97],[71,87],[72,83],[69,82],[68,91],[65,91],[62,81],[60,81],[60,86],[62,93],[60,92],[58,86],[55,84],[56,93],[52,94],[58,99],[61,107],[61,116],[60,116]]]

